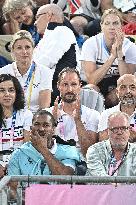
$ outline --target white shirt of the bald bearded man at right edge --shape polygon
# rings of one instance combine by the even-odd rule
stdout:
[[[114,112],[119,112],[120,111],[120,104],[104,110],[99,119],[99,124],[98,124],[98,132],[102,132],[108,128],[108,117],[113,114]],[[130,124],[135,125],[136,124],[136,110],[134,113],[130,116]]]

